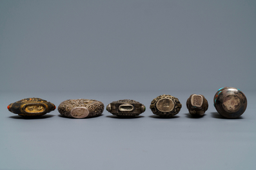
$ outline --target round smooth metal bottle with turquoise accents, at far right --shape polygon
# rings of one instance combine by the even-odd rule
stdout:
[[[222,116],[237,118],[244,113],[247,107],[247,99],[244,93],[234,87],[222,87],[214,98],[214,106]]]

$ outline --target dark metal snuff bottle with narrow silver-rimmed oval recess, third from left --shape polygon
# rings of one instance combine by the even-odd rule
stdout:
[[[131,99],[123,99],[119,101],[113,101],[106,106],[106,110],[113,115],[119,117],[133,117],[145,112],[146,107],[138,101]]]

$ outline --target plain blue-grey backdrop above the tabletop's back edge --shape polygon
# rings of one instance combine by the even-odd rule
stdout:
[[[255,1],[0,1],[1,91],[254,90]]]

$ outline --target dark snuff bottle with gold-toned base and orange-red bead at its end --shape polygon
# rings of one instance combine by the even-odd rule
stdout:
[[[25,117],[36,117],[55,110],[56,106],[49,101],[40,98],[26,98],[11,103],[8,110],[14,114]]]

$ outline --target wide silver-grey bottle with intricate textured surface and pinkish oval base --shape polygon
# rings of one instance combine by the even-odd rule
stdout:
[[[101,115],[104,105],[94,99],[68,99],[58,106],[58,111],[65,117],[84,118]]]

